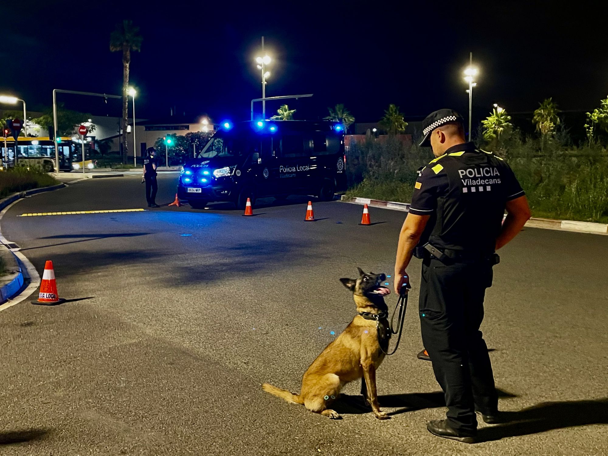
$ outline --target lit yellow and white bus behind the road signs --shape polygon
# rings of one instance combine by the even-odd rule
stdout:
[[[72,171],[74,169],[73,162],[82,161],[80,154],[78,154],[81,145],[69,136],[61,136],[58,139],[58,170]],[[55,166],[55,143],[48,136],[19,136],[17,147],[18,162],[40,165],[47,172],[57,171],[57,166]],[[15,165],[15,139],[0,137],[0,150],[2,151],[2,166],[13,167]]]

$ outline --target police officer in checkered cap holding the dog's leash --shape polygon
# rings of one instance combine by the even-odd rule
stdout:
[[[412,255],[423,258],[422,338],[447,405],[447,420],[429,421],[427,429],[474,443],[475,410],[486,423],[500,421],[488,347],[479,330],[483,298],[498,263],[495,250],[519,233],[530,209],[506,162],[466,142],[458,112],[440,109],[422,126],[420,145],[431,146],[436,158],[414,186],[399,235],[395,291],[408,283]]]

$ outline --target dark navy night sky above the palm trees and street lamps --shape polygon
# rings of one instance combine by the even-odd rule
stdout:
[[[121,57],[109,52],[109,34],[130,18],[144,38],[131,63],[137,117],[166,117],[176,106],[191,118],[248,119],[251,98],[261,97],[254,58],[262,35],[274,59],[266,95],[314,93],[289,102],[297,119],[325,116],[336,103],[359,122],[375,122],[389,103],[406,116],[445,107],[466,114],[470,51],[480,69],[477,117],[492,103],[533,111],[551,96],[561,109],[589,110],[608,94],[608,8],[598,6],[606,3],[30,1],[27,15],[3,9],[0,93],[30,110],[50,106],[54,88],[120,94]],[[60,101],[120,116],[118,101]]]

